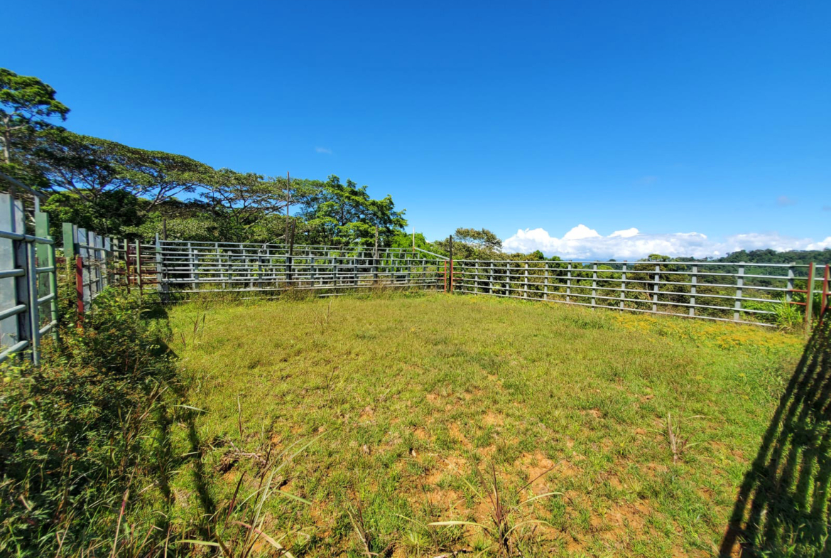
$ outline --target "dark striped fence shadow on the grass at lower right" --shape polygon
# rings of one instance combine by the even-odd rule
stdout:
[[[745,473],[719,556],[831,556],[831,320],[824,322]]]

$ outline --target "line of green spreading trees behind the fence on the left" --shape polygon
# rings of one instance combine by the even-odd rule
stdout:
[[[407,225],[366,185],[214,169],[188,156],[67,130],[68,106],[37,77],[0,68],[0,172],[48,194],[52,222],[102,235],[302,244],[393,244]],[[57,230],[54,231],[57,234]]]

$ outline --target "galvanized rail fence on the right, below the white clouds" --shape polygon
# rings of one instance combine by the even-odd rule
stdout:
[[[824,314],[831,294],[829,266],[814,264],[456,260],[452,268],[457,293],[760,325],[774,324],[777,305],[812,316],[814,293]]]

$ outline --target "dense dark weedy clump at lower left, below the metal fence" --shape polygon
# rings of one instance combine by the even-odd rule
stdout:
[[[57,556],[112,544],[143,436],[168,391],[165,320],[105,290],[42,365],[7,362],[0,384],[0,554]]]

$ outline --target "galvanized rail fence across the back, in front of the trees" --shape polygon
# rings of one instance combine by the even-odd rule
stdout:
[[[194,242],[155,239],[127,247],[128,284],[170,294],[351,290],[377,286],[437,289],[445,259],[415,249]],[[150,279],[155,275],[153,279]]]

